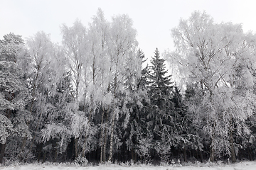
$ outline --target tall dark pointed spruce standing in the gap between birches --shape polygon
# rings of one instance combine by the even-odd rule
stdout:
[[[154,149],[159,153],[161,159],[167,161],[172,140],[174,140],[174,105],[171,101],[173,94],[173,82],[171,75],[165,76],[168,72],[165,67],[165,60],[160,58],[159,50],[156,48],[154,57],[151,60],[149,72],[149,98],[150,108],[147,115],[149,137],[153,140]],[[155,157],[154,157],[155,158]]]

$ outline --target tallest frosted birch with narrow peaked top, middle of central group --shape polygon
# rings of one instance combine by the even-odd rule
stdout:
[[[107,145],[107,103],[105,99],[110,85],[110,55],[107,54],[108,43],[110,40],[110,23],[105,19],[103,11],[99,8],[97,15],[92,17],[92,23],[89,24],[89,54],[92,58],[90,63],[90,85],[87,88],[87,94],[90,96],[87,103],[90,105],[90,120],[92,115],[102,113],[100,120],[100,162],[106,161]],[[109,99],[109,98],[108,98]],[[99,112],[102,109],[102,112]]]

